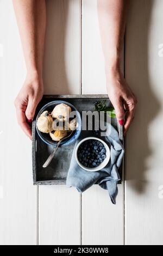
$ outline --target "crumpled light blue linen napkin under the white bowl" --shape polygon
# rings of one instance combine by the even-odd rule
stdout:
[[[120,180],[118,168],[121,166],[124,149],[117,130],[114,128],[114,126],[111,125],[111,127],[109,127],[109,125],[111,124],[107,124],[106,129],[110,129],[110,135],[101,137],[101,139],[103,139],[110,148],[109,163],[105,166],[105,168],[97,172],[88,172],[78,165],[75,157],[76,145],[83,138],[90,136],[96,137],[92,134],[92,131],[82,131],[73,150],[66,185],[68,187],[76,187],[79,192],[84,192],[93,184],[98,184],[105,190],[108,190],[111,202],[116,204],[116,196],[118,193],[117,184]]]

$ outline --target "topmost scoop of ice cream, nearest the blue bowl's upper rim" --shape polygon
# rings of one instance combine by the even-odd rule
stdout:
[[[54,107],[52,117],[57,118],[59,121],[66,121],[70,117],[71,107],[61,103]]]

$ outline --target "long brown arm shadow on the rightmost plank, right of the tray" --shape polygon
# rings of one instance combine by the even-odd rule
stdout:
[[[149,169],[147,160],[153,155],[149,128],[160,111],[160,103],[154,93],[155,84],[149,76],[149,32],[153,8],[152,0],[130,1],[127,23],[126,78],[138,104],[135,120],[127,135],[126,180],[132,180],[130,186],[139,193],[145,191]]]

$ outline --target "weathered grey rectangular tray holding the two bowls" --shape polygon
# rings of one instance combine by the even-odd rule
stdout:
[[[46,103],[54,100],[65,100],[72,103],[78,111],[92,111],[93,103],[96,100],[107,100],[111,106],[111,102],[107,95],[45,95],[37,106],[36,114],[40,108]],[[112,118],[112,125],[118,129],[116,118]],[[119,130],[120,136],[123,137],[122,130]],[[47,160],[49,154],[52,153],[53,147],[45,144],[37,135],[35,128],[35,118],[32,123],[32,158],[33,158],[33,184],[34,185],[64,185],[66,184],[66,177],[68,168],[70,166],[71,156],[74,149],[74,144],[66,148],[59,148],[55,153],[55,157],[47,168],[43,168],[43,163]],[[124,162],[124,161],[123,161]],[[123,162],[119,169],[122,178]]]

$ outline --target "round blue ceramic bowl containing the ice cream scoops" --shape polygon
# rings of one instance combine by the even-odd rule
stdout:
[[[80,113],[77,111],[77,109],[71,103],[62,101],[62,100],[56,100],[56,101],[47,103],[45,106],[43,106],[40,109],[39,113],[37,114],[36,124],[37,124],[37,119],[40,117],[40,115],[42,114],[43,111],[47,110],[47,111],[51,112],[51,111],[53,111],[53,108],[60,103],[64,103],[64,104],[70,106],[72,111],[76,111],[76,118],[77,118],[77,123],[78,123],[78,127],[76,130],[74,130],[74,132],[72,133],[72,136],[65,139],[63,142],[60,143],[60,147],[63,148],[63,147],[67,147],[68,145],[70,145],[71,143],[76,141],[76,139],[79,137],[79,135],[82,131],[82,119],[80,117]],[[45,142],[46,144],[48,144],[50,146],[56,147],[58,142],[53,141],[48,133],[40,132],[39,129],[37,129],[37,125],[36,125],[36,131],[43,142]]]

